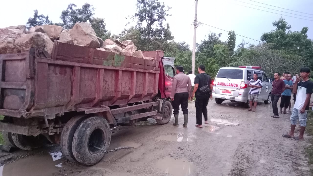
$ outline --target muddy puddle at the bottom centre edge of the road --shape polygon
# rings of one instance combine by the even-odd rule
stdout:
[[[196,166],[188,161],[168,157],[156,162],[155,167],[159,169],[162,174],[170,174],[173,176],[194,175],[196,170]]]

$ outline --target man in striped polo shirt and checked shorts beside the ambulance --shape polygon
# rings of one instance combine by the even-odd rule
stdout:
[[[248,101],[250,103],[250,109],[248,111],[255,111],[260,89],[262,88],[262,81],[258,79],[258,74],[253,74],[253,80],[249,81],[248,87],[251,87],[248,95]],[[252,109],[252,101],[254,101],[254,110]]]

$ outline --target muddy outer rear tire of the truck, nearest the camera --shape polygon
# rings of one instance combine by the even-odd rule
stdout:
[[[95,165],[104,157],[111,141],[110,125],[103,117],[85,119],[77,127],[73,138],[73,155],[79,163]],[[95,148],[100,148],[101,150]]]

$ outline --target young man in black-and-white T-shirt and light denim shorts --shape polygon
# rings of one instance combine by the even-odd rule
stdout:
[[[310,98],[313,93],[313,83],[309,80],[310,71],[311,70],[309,68],[302,68],[300,70],[301,77],[296,79],[293,92],[297,93],[297,97],[294,109],[292,110],[292,114],[290,116],[291,128],[290,132],[283,135],[283,137],[290,137],[301,141],[304,140],[303,135],[306,127],[307,111],[309,110]],[[295,126],[297,125],[298,120],[300,122],[300,134],[298,137],[295,137]]]

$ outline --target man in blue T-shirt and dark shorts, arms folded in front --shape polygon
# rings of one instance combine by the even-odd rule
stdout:
[[[291,79],[291,75],[288,74],[286,79],[283,80],[285,83],[285,91],[281,94],[280,112],[278,114],[282,114],[283,108],[284,108],[283,113],[288,114],[288,112],[286,112],[286,110],[287,110],[287,107],[290,106],[291,90],[293,88],[293,81],[291,81],[290,79]]]

